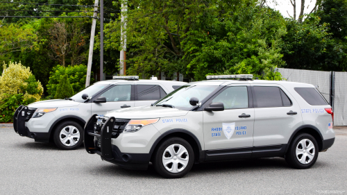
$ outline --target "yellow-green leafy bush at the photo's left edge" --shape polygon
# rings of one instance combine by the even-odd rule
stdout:
[[[3,74],[0,76],[0,101],[8,98],[8,95],[22,94],[23,101],[39,101],[43,93],[40,81],[36,81],[30,68],[24,67],[21,62],[3,64]]]

